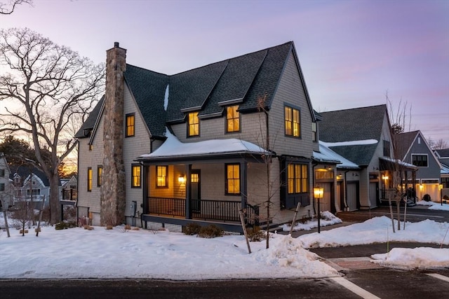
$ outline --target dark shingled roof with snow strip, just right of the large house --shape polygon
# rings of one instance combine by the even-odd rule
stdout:
[[[330,112],[320,112],[319,139],[327,143],[375,140],[372,143],[330,144],[328,147],[355,162],[369,165],[382,135],[387,105],[361,107]]]

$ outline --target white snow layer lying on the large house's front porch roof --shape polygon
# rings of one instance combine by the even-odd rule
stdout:
[[[260,146],[241,139],[212,139],[183,143],[166,129],[166,141],[153,153],[140,155],[139,159],[208,155],[217,153],[271,154]]]

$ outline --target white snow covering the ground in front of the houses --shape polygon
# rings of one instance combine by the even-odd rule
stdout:
[[[203,239],[168,230],[125,230],[120,226],[113,230],[55,230],[47,226],[39,237],[32,229],[25,237],[15,229],[11,229],[11,237],[0,230],[0,279],[333,277],[339,275],[337,271],[307,248],[393,241],[449,244],[447,222],[407,222],[405,230],[403,225],[393,233],[391,219],[377,217],[298,238],[273,234],[269,249],[264,241],[250,242],[252,253],[248,253],[243,236]],[[0,226],[4,227],[3,219]],[[392,249],[372,258],[375,263],[394,267],[449,267],[449,249]]]

